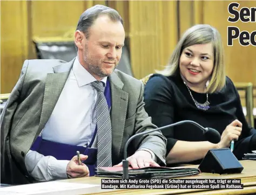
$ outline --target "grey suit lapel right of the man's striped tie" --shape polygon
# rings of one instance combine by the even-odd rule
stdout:
[[[111,125],[112,125],[112,141],[114,141],[113,154],[119,154],[123,135],[124,124],[127,112],[129,94],[122,90],[124,83],[119,79],[116,73],[110,76],[111,87]]]

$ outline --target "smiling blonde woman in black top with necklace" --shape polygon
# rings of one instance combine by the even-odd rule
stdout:
[[[249,127],[237,89],[225,75],[219,32],[210,25],[188,29],[177,44],[169,65],[151,76],[144,92],[145,109],[158,127],[183,120],[219,131],[221,141],[206,141],[193,124],[164,129],[167,163],[200,163],[209,149],[230,147],[241,159],[256,150],[256,130]]]

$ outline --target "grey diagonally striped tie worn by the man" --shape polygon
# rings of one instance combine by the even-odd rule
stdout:
[[[109,108],[104,95],[103,83],[92,82],[92,86],[97,90],[96,118],[97,118],[97,167],[112,166],[112,131]]]

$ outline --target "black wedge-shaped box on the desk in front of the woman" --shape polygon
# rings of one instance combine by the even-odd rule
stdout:
[[[241,173],[244,167],[229,148],[223,148],[209,150],[198,169],[207,173],[230,174]]]

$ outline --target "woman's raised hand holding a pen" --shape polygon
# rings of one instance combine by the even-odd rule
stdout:
[[[218,143],[219,148],[230,147],[230,142],[232,140],[238,140],[242,131],[242,123],[238,120],[234,120],[232,123],[228,124],[226,129],[221,135],[221,140]]]

